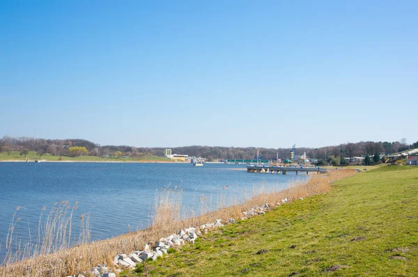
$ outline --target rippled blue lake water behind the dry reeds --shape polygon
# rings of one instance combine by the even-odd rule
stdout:
[[[78,202],[72,224],[75,236],[81,214],[90,213],[91,239],[97,240],[146,228],[152,221],[156,195],[164,187],[182,189],[182,206],[197,215],[202,195],[215,208],[221,198],[228,204],[230,199],[244,200],[261,187],[285,189],[289,182],[307,178],[247,173],[242,168],[245,165],[0,163],[0,263],[10,220],[19,206],[14,242],[37,237],[42,207],[49,212],[62,200],[69,205]]]

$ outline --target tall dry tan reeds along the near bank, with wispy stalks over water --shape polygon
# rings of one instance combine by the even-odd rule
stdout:
[[[98,242],[82,243],[70,248],[63,248],[63,245],[67,245],[69,241],[68,237],[59,237],[60,235],[68,236],[68,233],[61,231],[59,235],[56,235],[52,232],[55,234],[54,239],[52,237],[49,239],[61,243],[62,248],[52,248],[49,241],[45,248],[47,251],[54,251],[53,253],[45,255],[39,253],[33,258],[26,258],[26,260],[19,262],[13,262],[13,260],[11,260],[12,262],[6,262],[0,268],[0,276],[68,276],[73,273],[89,271],[92,267],[104,262],[109,267],[113,267],[113,258],[117,253],[131,253],[142,249],[144,244],[148,242],[155,242],[161,237],[178,232],[180,229],[199,226],[203,223],[215,221],[215,219],[240,219],[242,212],[254,206],[264,205],[265,203],[274,206],[284,198],[291,202],[298,198],[325,193],[330,191],[332,182],[355,173],[357,171],[354,170],[330,171],[326,175],[314,175],[305,183],[292,184],[283,191],[269,192],[262,187],[258,191],[253,191],[253,196],[239,205],[224,207],[226,202],[221,200],[217,203],[219,209],[212,212],[208,212],[213,208],[208,204],[211,201],[205,200],[205,197],[201,196],[201,215],[190,218],[185,218],[189,213],[181,209],[181,191],[162,191],[157,193],[153,225],[150,228]],[[68,221],[56,220],[54,216],[51,220],[50,222],[61,226],[70,224]]]

